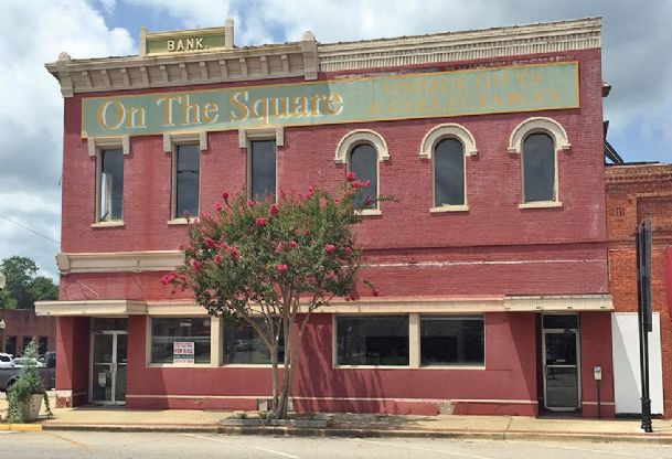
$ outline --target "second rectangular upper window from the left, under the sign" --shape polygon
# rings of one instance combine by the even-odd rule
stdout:
[[[198,145],[178,145],[173,156],[173,218],[199,215],[201,154]]]

